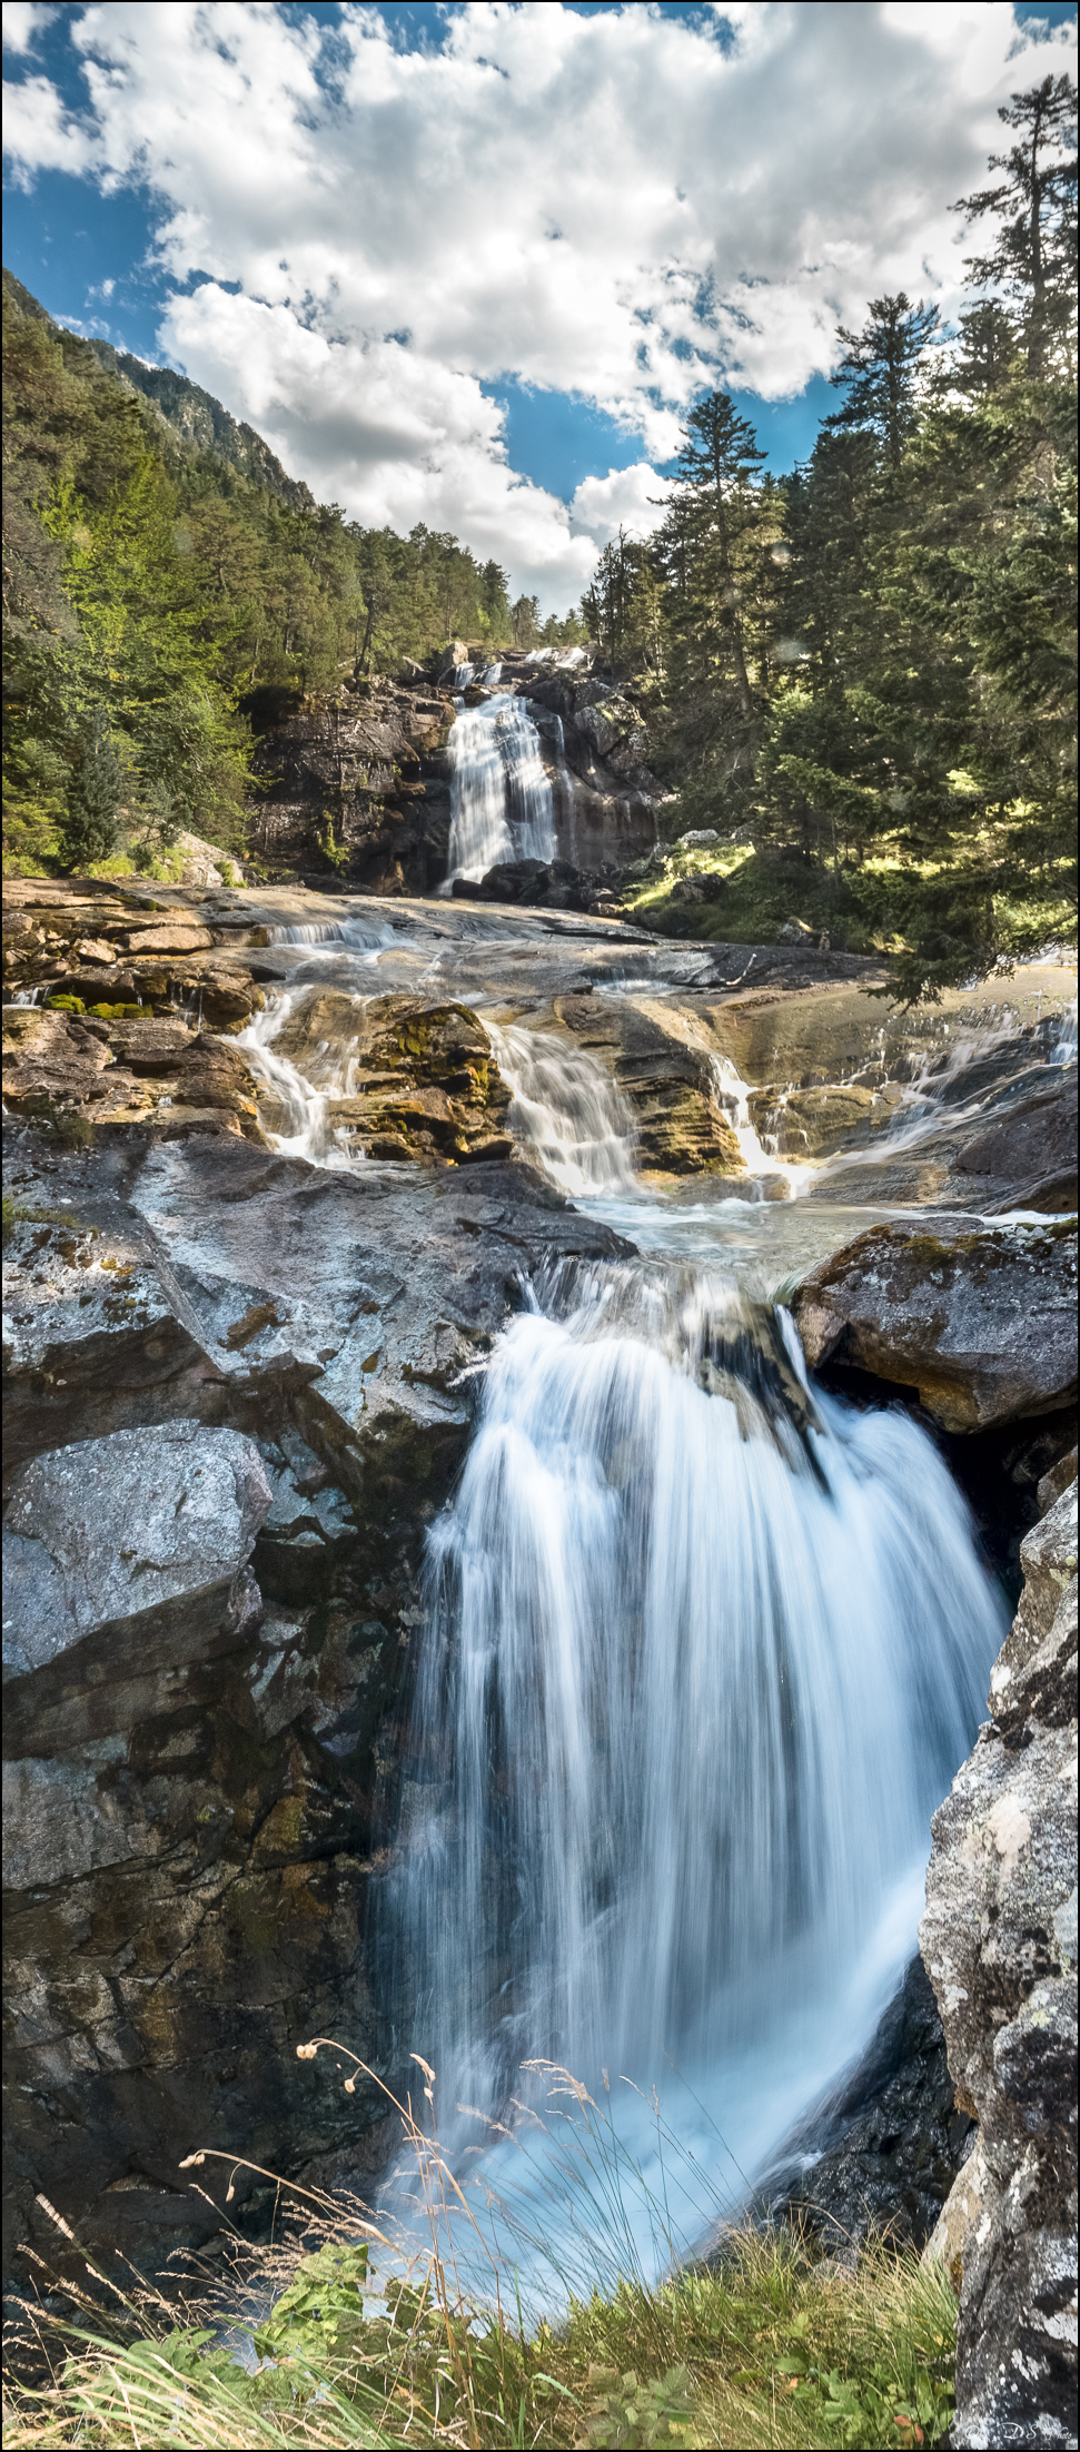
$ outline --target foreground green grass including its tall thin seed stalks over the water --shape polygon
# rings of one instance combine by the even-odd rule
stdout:
[[[313,2050],[301,2047],[301,2057]],[[651,2285],[615,2209],[615,2128],[585,2089],[563,2084],[566,2072],[553,2077],[553,2096],[573,2096],[573,2153],[588,2172],[590,2202],[610,2207],[593,2241],[598,2283],[585,2283],[561,2320],[522,2320],[517,2271],[492,2253],[438,2141],[421,2133],[409,2109],[402,2119],[416,2155],[416,2197],[429,2212],[424,2241],[387,2239],[355,2202],[299,2190],[291,2222],[269,2246],[233,2234],[225,2271],[203,2271],[196,2283],[189,2275],[184,2300],[176,2288],[171,2300],[147,2290],[125,2295],[93,2261],[78,2285],[69,2266],[61,2290],[76,2312],[66,2322],[49,2312],[56,2280],[32,2256],[44,2295],[27,2298],[22,2339],[12,2344],[10,2452],[47,2445],[877,2452],[943,2440],[953,2413],[955,2298],[940,2266],[921,2268],[911,2253],[896,2256],[877,2241],[847,2273],[798,2231],[742,2226],[722,2234],[708,2266],[673,2258],[669,2278]],[[561,2109],[556,2116],[566,2119]],[[59,2229],[73,2244],[64,2222]],[[478,2253],[487,2258],[482,2295],[458,2283],[463,2246],[473,2263]],[[620,2261],[627,2273],[612,2278]],[[238,2337],[247,2364],[230,2347]]]

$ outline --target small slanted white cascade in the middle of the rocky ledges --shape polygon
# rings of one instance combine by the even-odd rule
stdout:
[[[634,1123],[610,1074],[544,1030],[485,1022],[512,1091],[509,1130],[558,1192],[634,1189]]]

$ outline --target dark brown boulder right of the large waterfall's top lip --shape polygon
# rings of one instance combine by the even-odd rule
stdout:
[[[803,1280],[793,1319],[816,1368],[916,1388],[943,1430],[972,1432],[1075,1400],[1075,1224],[872,1226]]]

